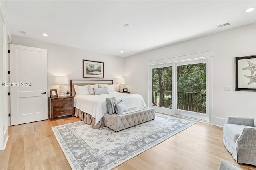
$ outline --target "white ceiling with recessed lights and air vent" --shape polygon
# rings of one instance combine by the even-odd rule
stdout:
[[[11,35],[122,57],[256,22],[256,10],[245,12],[256,6],[256,0],[2,0],[2,4]],[[226,22],[231,25],[216,27]]]

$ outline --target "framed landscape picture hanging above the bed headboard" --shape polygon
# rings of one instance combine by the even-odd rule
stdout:
[[[83,60],[84,78],[104,78],[104,62]]]

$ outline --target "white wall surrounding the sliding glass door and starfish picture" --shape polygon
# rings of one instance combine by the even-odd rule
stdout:
[[[234,91],[234,58],[256,55],[256,23],[126,57],[126,86],[147,101],[146,62],[210,50],[214,51],[210,124],[222,126],[229,115],[255,117],[256,92]],[[224,86],[231,91],[224,91]]]

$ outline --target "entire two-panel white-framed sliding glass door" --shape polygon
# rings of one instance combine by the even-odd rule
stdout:
[[[149,68],[150,107],[161,113],[209,120],[206,59]]]

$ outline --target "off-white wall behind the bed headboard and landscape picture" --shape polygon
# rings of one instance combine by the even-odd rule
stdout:
[[[59,92],[59,86],[54,84],[55,76],[68,76],[69,80],[86,79],[83,78],[83,59],[104,62],[103,80],[114,80],[115,83],[116,78],[124,76],[123,57],[16,36],[12,36],[12,44],[47,49],[48,96],[50,96],[50,89],[57,89],[57,92]],[[70,84],[65,85],[65,90],[70,90]]]

